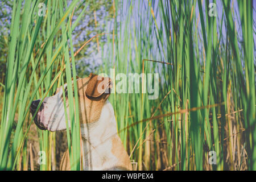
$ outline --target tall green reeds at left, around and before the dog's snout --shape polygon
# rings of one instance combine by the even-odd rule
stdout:
[[[63,4],[62,1],[45,1],[44,3],[48,5],[46,16],[38,16],[39,1],[24,1],[23,9],[22,1],[14,1],[1,119],[1,169],[28,169],[26,135],[32,123],[28,113],[30,104],[33,100],[51,96],[57,85],[60,86],[60,80],[59,83],[57,81],[58,78],[63,78],[63,74],[65,74],[65,80],[71,82],[67,40],[72,49],[71,31],[74,27],[69,26],[69,22],[77,2],[73,1],[67,6],[67,3]],[[62,55],[65,62],[62,61]],[[73,54],[71,60],[75,65]],[[76,78],[74,69],[73,76]],[[76,90],[76,84],[74,88]],[[72,93],[73,90],[69,84],[68,98],[73,101]],[[78,103],[77,94],[75,94],[75,101]],[[69,111],[74,115],[73,107],[70,107]],[[18,121],[14,128],[17,113]],[[71,166],[72,169],[80,169],[80,126],[77,114],[71,118],[71,131],[69,150],[71,151],[72,145],[73,150],[76,151],[70,152]],[[38,135],[40,150],[46,152],[46,163],[40,165],[40,169],[51,170],[51,147],[55,135],[42,130],[38,130]],[[23,164],[21,168],[20,164]]]

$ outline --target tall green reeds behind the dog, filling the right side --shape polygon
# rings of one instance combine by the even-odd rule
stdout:
[[[208,15],[209,1],[121,3],[104,67],[113,60],[115,73],[159,72],[161,77],[158,100],[147,100],[147,94],[110,98],[120,136],[138,169],[255,169],[253,5],[238,3],[241,27],[250,32],[242,32],[250,46],[239,47],[233,5],[227,2],[218,12],[218,25],[217,17]],[[242,58],[245,52],[250,59]],[[144,59],[160,63],[144,61],[143,70]],[[155,115],[158,119],[150,119]],[[216,152],[217,165],[209,165],[209,151]]]

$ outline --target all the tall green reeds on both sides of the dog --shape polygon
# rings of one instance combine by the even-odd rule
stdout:
[[[0,169],[32,168],[30,104],[68,82],[68,150],[71,169],[80,170],[75,82],[76,105],[71,103],[77,75],[72,32],[84,17],[71,20],[72,12],[86,11],[88,2],[46,0],[46,16],[38,16],[40,2],[13,4],[0,94]],[[114,69],[109,100],[118,134],[139,170],[256,169],[253,1],[238,1],[239,14],[230,1],[213,2],[223,7],[217,17],[208,15],[209,1],[114,0],[113,20],[106,32],[98,32],[107,34],[106,42],[98,37],[102,64],[95,72],[110,76]],[[241,24],[235,26],[235,18]],[[159,73],[159,98],[118,93],[118,73]],[[47,158],[40,170],[55,169],[56,134],[37,131]],[[209,164],[209,151],[216,152],[216,165]]]

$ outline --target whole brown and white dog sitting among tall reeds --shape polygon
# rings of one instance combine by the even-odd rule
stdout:
[[[129,156],[117,134],[113,106],[107,100],[112,87],[110,78],[91,73],[89,77],[78,78],[76,81],[79,96],[83,169],[131,170]],[[64,85],[64,90],[67,92],[67,84]],[[67,93],[65,96],[68,125],[70,126]],[[32,115],[35,114],[39,102],[40,100],[32,102],[30,106]],[[42,130],[66,129],[62,86],[57,88],[54,96],[44,99],[36,113],[34,122]],[[61,159],[60,169],[70,170],[68,150]]]

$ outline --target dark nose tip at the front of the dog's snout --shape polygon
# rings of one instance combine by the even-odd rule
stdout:
[[[32,101],[31,106],[30,106],[30,113],[32,114],[32,116],[34,116],[35,111],[38,108],[40,101],[41,100]],[[42,102],[42,104],[40,105],[38,113],[36,113],[36,115],[35,115],[34,122],[35,122],[36,126],[39,127],[39,129],[46,130],[46,127],[43,126],[43,124],[41,123],[41,119],[40,119],[40,113],[43,109],[44,109],[44,102]]]

